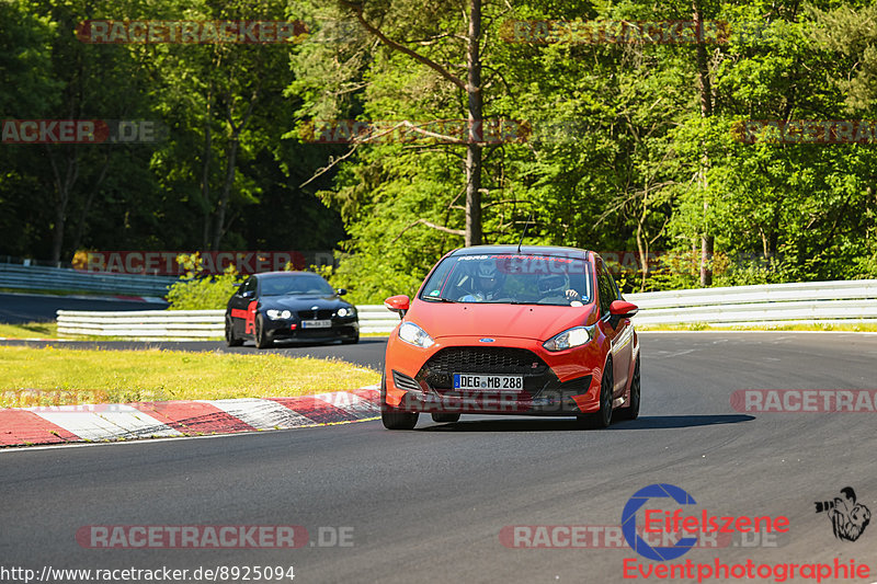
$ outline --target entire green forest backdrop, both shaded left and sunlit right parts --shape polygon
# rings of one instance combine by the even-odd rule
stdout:
[[[664,257],[620,272],[627,290],[697,286],[705,237],[714,285],[877,276],[875,145],[736,139],[747,119],[874,117],[872,2],[698,0],[703,19],[731,31],[699,65],[691,43],[504,38],[513,19],[691,21],[691,1],[481,3],[485,117],[533,130],[483,149],[486,243],[516,243],[532,215],[529,243]],[[465,118],[466,92],[400,47],[465,79],[468,4],[0,3],[4,117],[169,127],[158,147],[2,145],[0,254],[319,249],[345,231],[333,285],[358,302],[411,294],[463,244],[465,147],[300,136],[321,119]],[[87,18],[300,19],[314,34],[287,46],[98,46],[72,34]]]

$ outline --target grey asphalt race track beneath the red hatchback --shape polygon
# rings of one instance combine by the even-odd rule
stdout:
[[[294,565],[296,583],[623,582],[626,559],[643,570],[658,562],[627,547],[510,549],[500,534],[505,526],[617,526],[635,492],[663,482],[687,491],[697,516],[790,520],[790,531],[768,546],[747,547],[738,534],[727,547],[692,549],[669,564],[840,558],[873,566],[870,577],[845,582],[877,580],[877,525],[841,541],[813,506],[853,486],[858,502],[877,512],[877,414],[750,415],[730,405],[739,389],[877,389],[877,336],[643,333],[641,340],[641,416],[606,431],[576,430],[562,419],[434,424],[421,417],[412,432],[363,422],[0,451],[0,558],[37,573],[47,565]],[[315,545],[88,549],[75,536],[91,525],[298,525]],[[332,543],[335,528],[344,528],[350,546],[318,545]],[[636,571],[628,575],[642,580]]]

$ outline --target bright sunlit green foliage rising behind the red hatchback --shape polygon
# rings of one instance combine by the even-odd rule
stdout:
[[[365,2],[365,15],[421,55],[465,62],[463,41],[432,38],[465,34],[465,11],[451,2],[436,18],[415,4]],[[873,102],[862,93],[877,95],[867,77],[877,31],[856,23],[873,9],[701,4],[705,20],[732,31],[727,43],[706,47],[708,116],[692,44],[501,39],[506,19],[691,21],[691,2],[483,3],[485,117],[534,128],[526,141],[486,150],[485,242],[516,243],[532,213],[528,242],[667,259],[645,277],[636,263],[623,272],[628,290],[697,286],[705,234],[715,238],[714,285],[877,275],[874,146],[733,138],[742,119],[867,118]],[[327,20],[346,14],[314,11]],[[306,44],[294,62],[305,116],[465,117],[463,92],[368,35]],[[315,65],[326,62],[342,66]],[[848,79],[857,73],[851,101]],[[358,89],[345,91],[351,87]],[[356,299],[412,293],[438,256],[462,244],[462,236],[431,226],[463,227],[463,156],[459,146],[429,141],[362,145],[339,165],[333,188],[320,194],[352,236],[337,278]]]

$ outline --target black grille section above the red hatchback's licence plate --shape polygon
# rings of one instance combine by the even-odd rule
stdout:
[[[548,366],[525,348],[447,347],[433,355],[424,368],[436,375],[542,375]]]

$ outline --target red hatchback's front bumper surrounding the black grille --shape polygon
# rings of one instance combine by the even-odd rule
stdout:
[[[429,348],[387,344],[386,405],[408,412],[577,415],[600,409],[604,353],[597,343],[549,352],[531,339],[441,337]],[[460,391],[454,374],[520,375],[522,390]]]

